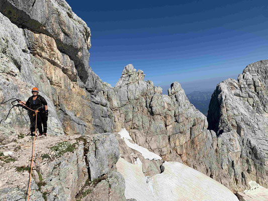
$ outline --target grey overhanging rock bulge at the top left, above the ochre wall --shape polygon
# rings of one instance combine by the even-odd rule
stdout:
[[[86,82],[91,32],[65,1],[1,1],[0,8],[18,27],[54,38],[58,49],[71,57],[80,79]]]

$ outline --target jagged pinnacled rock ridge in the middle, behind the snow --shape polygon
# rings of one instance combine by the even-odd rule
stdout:
[[[207,130],[206,117],[190,104],[180,83],[171,84],[168,95],[163,95],[160,87],[144,81],[143,72],[129,64],[115,87],[104,85],[103,90],[116,131],[126,128],[135,143],[163,160],[212,174],[216,135]]]

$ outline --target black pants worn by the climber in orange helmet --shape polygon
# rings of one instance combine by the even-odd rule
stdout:
[[[34,112],[29,112],[29,118],[31,122],[30,130],[31,133],[35,131],[35,116],[33,116]],[[42,126],[43,124],[43,126]],[[47,117],[44,112],[37,113],[37,128],[40,134],[47,133]]]

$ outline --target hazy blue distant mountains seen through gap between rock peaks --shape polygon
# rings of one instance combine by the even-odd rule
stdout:
[[[209,102],[213,91],[193,91],[186,94],[191,104],[205,116],[208,115]]]

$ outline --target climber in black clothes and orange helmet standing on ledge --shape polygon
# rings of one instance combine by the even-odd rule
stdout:
[[[48,109],[47,109],[47,102],[45,98],[38,94],[38,88],[34,87],[32,89],[33,95],[28,98],[27,102],[20,101],[19,103],[26,105],[27,107],[31,108],[32,110],[38,110],[37,113],[37,128],[39,130],[39,136],[44,135],[47,136],[47,118],[48,118]],[[28,110],[28,115],[30,118],[31,126],[31,135],[34,135],[33,132],[35,131],[35,119],[34,112]],[[42,128],[43,124],[43,128]],[[44,129],[44,130],[43,130]]]

